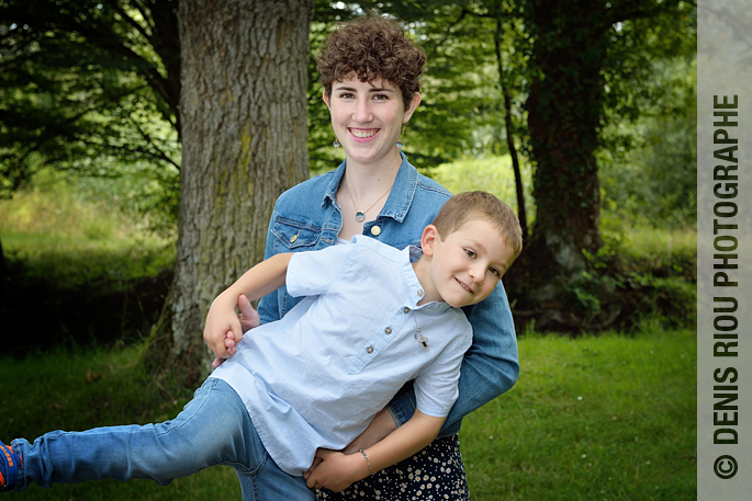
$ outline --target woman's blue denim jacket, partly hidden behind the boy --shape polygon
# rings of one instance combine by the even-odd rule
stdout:
[[[336,171],[282,193],[269,223],[265,258],[335,244],[343,226],[336,194],[345,166],[343,162]],[[419,174],[402,155],[392,192],[379,216],[366,223],[363,235],[397,249],[419,246],[423,229],[450,196],[440,184]],[[261,321],[280,319],[301,299],[280,287],[259,303]],[[464,415],[512,388],[519,374],[517,338],[504,286],[500,284],[485,300],[463,310],[473,327],[473,343],[462,361],[459,398],[439,436],[459,432]],[[413,415],[414,401],[412,388],[405,388],[392,400],[390,411],[397,425]]]

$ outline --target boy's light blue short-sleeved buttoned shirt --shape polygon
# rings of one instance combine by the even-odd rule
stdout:
[[[318,447],[346,447],[408,380],[417,409],[449,413],[472,328],[446,303],[417,306],[423,287],[411,250],[417,259],[414,247],[356,236],[293,255],[288,293],[306,297],[248,332],[212,374],[240,396],[282,470],[300,476]]]

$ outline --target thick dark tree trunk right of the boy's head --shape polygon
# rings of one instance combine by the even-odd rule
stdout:
[[[527,252],[536,266],[537,299],[546,301],[561,293],[551,278],[571,281],[587,266],[583,251],[595,253],[603,244],[595,150],[608,25],[597,0],[559,8],[530,3],[537,33],[526,107],[537,210]]]

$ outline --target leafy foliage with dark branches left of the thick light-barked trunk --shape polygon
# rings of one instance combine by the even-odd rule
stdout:
[[[40,166],[98,175],[179,162],[177,2],[0,9],[0,196]]]

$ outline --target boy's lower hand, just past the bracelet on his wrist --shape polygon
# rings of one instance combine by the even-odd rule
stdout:
[[[305,485],[311,489],[329,489],[341,492],[352,482],[368,477],[369,469],[361,454],[345,455],[338,451],[316,451],[313,470],[305,472]],[[364,472],[363,472],[364,468]]]

